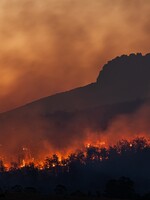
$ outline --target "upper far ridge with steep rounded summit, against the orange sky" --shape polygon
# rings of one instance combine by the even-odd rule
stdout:
[[[95,83],[39,99],[19,110],[53,113],[146,99],[150,97],[149,76],[150,54],[122,55],[103,66]]]

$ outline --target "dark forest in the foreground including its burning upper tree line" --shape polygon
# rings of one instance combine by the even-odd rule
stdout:
[[[8,169],[0,162],[0,194],[149,199],[150,143],[144,137],[120,140],[113,146],[87,145],[67,158],[46,157]]]

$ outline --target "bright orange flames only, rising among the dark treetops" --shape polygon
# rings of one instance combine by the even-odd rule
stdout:
[[[100,160],[103,161],[109,159],[109,152],[108,149],[110,148],[111,145],[118,145],[118,154],[121,154],[121,145],[122,143],[126,144],[126,148],[134,148],[136,145],[136,137],[122,137],[122,139],[117,143],[112,143],[112,141],[109,140],[106,136],[97,140],[94,140],[94,138],[91,138],[91,140],[88,138],[85,142],[84,145],[81,148],[69,148],[66,149],[65,153],[61,151],[57,152],[47,152],[47,155],[41,155],[39,158],[36,158],[32,155],[32,152],[30,151],[30,148],[27,146],[23,146],[18,155],[18,159],[14,160],[7,160],[6,156],[3,154],[1,155],[0,153],[0,161],[4,163],[5,170],[8,171],[12,168],[19,169],[19,168],[24,168],[26,166],[31,166],[33,165],[34,167],[38,168],[39,170],[43,170],[45,167],[48,168],[55,168],[57,165],[62,166],[62,167],[67,167],[69,163],[69,159],[77,159],[78,155],[81,157],[87,158],[87,152],[90,151],[90,149],[95,149],[99,155],[96,154],[91,154],[90,159],[91,160]],[[142,148],[145,148],[146,145],[150,146],[150,139],[146,137],[146,134],[141,134],[140,137],[137,138],[144,138],[146,143],[142,146]],[[144,141],[143,139],[143,141]],[[2,146],[2,145],[1,145]],[[43,156],[43,157],[42,157]],[[46,158],[47,158],[47,166],[46,166]],[[82,160],[82,159],[81,159]],[[82,163],[84,161],[82,160]]]

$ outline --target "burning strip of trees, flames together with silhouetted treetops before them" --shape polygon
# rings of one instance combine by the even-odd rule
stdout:
[[[72,164],[88,165],[95,163],[110,162],[113,159],[128,157],[131,159],[141,153],[150,153],[150,140],[145,137],[136,137],[131,140],[122,139],[115,145],[109,145],[105,141],[87,143],[83,148],[70,150],[66,155],[59,153],[50,154],[37,160],[32,157],[32,152],[27,147],[23,147],[18,160],[9,162],[5,157],[0,158],[0,172],[21,170],[23,168],[35,168],[37,170],[50,170],[55,172],[69,172]]]

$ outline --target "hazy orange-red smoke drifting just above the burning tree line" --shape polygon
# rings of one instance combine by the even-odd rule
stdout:
[[[104,130],[99,124],[99,115],[97,118],[95,115],[90,123],[81,114],[43,118],[31,111],[30,117],[27,115],[25,119],[15,116],[10,114],[10,118],[5,120],[3,116],[0,120],[0,156],[4,162],[17,162],[20,166],[30,162],[42,166],[43,160],[53,154],[61,161],[85,147],[108,148],[123,139],[130,141],[144,137],[148,141],[150,138],[149,104],[136,112],[117,115],[109,120]]]

